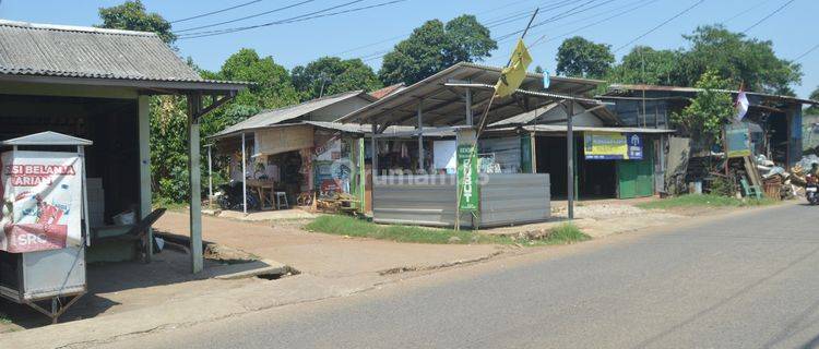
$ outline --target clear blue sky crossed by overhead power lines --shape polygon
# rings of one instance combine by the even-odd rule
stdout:
[[[123,0],[0,0],[0,17],[5,20],[64,25],[98,24],[100,7],[111,7]],[[252,26],[304,15],[328,8],[330,14],[343,10],[378,5],[391,0],[256,0],[233,10],[201,16],[191,16],[223,10],[251,0],[143,0],[150,12],[157,12],[171,21],[174,31],[185,31],[203,25],[237,20],[280,8],[293,5],[274,13],[237,21],[219,26],[188,31],[187,33]],[[773,43],[781,58],[796,59],[819,45],[816,0],[392,0],[382,7],[348,13],[328,15],[295,23],[229,33],[224,35],[180,38],[175,46],[182,57],[191,57],[200,67],[218,70],[224,60],[241,48],[253,48],[287,69],[304,65],[323,56],[361,58],[378,70],[381,56],[425,21],[448,21],[461,14],[475,14],[489,26],[494,37],[502,37],[525,27],[525,12],[539,7],[535,19],[548,21],[533,27],[526,35],[535,64],[554,73],[557,48],[563,38],[580,35],[595,43],[612,45],[617,59],[628,53],[634,45],[657,49],[685,47],[682,34],[697,26],[723,23],[729,29]],[[675,14],[695,5],[672,20]],[[344,5],[346,4],[346,5]],[[560,5],[556,8],[557,5]],[[785,5],[779,12],[775,10]],[[573,10],[574,9],[574,10]],[[567,11],[569,14],[567,15]],[[767,20],[753,26],[760,20]],[[663,22],[665,25],[649,33]],[[752,27],[751,27],[752,26]],[[186,33],[186,32],[180,32]],[[643,36],[644,35],[644,36]],[[642,37],[641,37],[642,36]],[[498,50],[484,63],[503,65],[514,45],[515,36],[500,40]],[[631,43],[633,41],[633,43]],[[630,44],[631,43],[631,44]],[[819,49],[805,56],[802,85],[794,86],[797,95],[807,97],[819,86]]]

